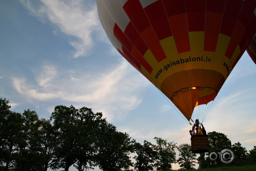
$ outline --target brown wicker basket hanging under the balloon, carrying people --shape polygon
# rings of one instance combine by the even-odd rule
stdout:
[[[194,135],[190,140],[193,153],[204,153],[209,151],[207,135]]]

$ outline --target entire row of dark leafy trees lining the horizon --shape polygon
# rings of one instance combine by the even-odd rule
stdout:
[[[154,138],[156,144],[146,140],[140,144],[91,108],[59,105],[49,119],[40,119],[30,109],[18,113],[10,108],[9,101],[0,98],[0,171],[68,171],[72,165],[78,171],[95,166],[102,171],[165,171],[176,162],[184,169],[195,166],[190,145],[177,146],[159,137]],[[215,131],[208,133],[208,141],[209,154],[218,155],[225,148],[233,151],[235,159],[228,165],[256,164],[256,146],[247,152],[240,142],[232,145],[227,135]],[[204,154],[197,161],[200,168],[226,165],[218,159],[205,160]]]

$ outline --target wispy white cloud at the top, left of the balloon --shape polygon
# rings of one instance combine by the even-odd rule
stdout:
[[[102,31],[98,21],[96,4],[87,5],[82,0],[20,0],[30,14],[40,21],[50,20],[65,34],[74,36],[69,43],[76,49],[73,57],[84,56],[93,46],[92,34]],[[56,31],[53,30],[56,35]]]

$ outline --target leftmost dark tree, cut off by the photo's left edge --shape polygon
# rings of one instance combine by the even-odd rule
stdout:
[[[0,99],[0,163],[4,171],[13,168],[18,136],[23,126],[21,114],[11,112],[8,103],[6,99]]]

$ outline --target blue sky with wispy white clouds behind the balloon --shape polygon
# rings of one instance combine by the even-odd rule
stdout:
[[[247,150],[256,146],[255,85],[256,65],[245,52],[207,106],[206,131],[224,133]],[[191,126],[113,48],[94,0],[0,1],[0,98],[11,111],[34,110],[39,118],[58,105],[85,106],[137,142],[155,144],[160,137],[190,144]]]

